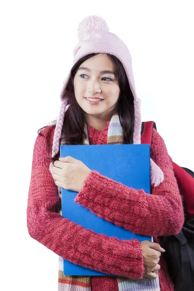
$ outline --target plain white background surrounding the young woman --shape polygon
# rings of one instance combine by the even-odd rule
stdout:
[[[83,17],[101,16],[126,43],[142,120],[154,120],[173,161],[194,171],[193,5],[189,0],[0,4],[1,290],[57,290],[58,255],[30,237],[26,208],[37,130],[57,118]]]

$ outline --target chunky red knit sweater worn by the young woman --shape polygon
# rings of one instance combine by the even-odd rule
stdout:
[[[88,126],[90,144],[107,143],[109,123],[110,121],[101,131]],[[49,127],[43,129],[41,133],[46,136],[48,129]],[[51,143],[53,134],[54,130],[50,137]],[[135,233],[152,235],[154,242],[159,242],[157,236],[179,232],[184,222],[184,214],[166,146],[155,129],[151,148],[151,158],[164,173],[164,181],[158,187],[152,188],[151,195],[92,171],[85,179],[75,201],[99,217]],[[47,150],[45,138],[38,135],[33,150],[27,207],[30,236],[73,263],[107,274],[142,278],[144,266],[139,241],[135,239],[120,241],[117,238],[97,234],[58,213],[61,201],[57,194],[57,186],[49,172],[48,154],[51,155],[51,151]],[[161,291],[173,291],[163,254],[159,263]],[[117,291],[115,280],[113,276],[92,277],[92,291],[103,290],[107,282],[109,290]]]

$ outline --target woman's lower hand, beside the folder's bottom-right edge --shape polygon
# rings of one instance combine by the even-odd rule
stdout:
[[[160,270],[161,266],[159,265],[161,252],[165,250],[157,242],[143,241],[140,242],[142,247],[142,253],[144,257],[144,267],[146,272],[143,276],[156,279],[157,274],[152,273],[152,271]]]

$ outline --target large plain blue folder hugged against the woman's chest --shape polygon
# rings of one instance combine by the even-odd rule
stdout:
[[[150,194],[150,145],[74,145],[60,146],[60,157],[71,156],[91,170],[136,190]],[[78,192],[62,188],[62,216],[98,234],[119,240],[152,241],[151,236],[137,235],[98,217],[74,199]],[[114,275],[74,264],[64,259],[64,275]]]

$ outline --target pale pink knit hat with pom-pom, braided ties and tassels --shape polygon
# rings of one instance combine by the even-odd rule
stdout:
[[[135,91],[135,82],[132,72],[132,62],[129,49],[124,42],[114,33],[109,32],[109,28],[106,21],[96,15],[87,16],[82,19],[78,27],[78,39],[79,43],[73,49],[73,64],[77,63],[83,56],[90,53],[110,53],[116,56],[122,63],[128,81],[131,92],[134,97],[134,133],[133,133],[133,144],[141,144],[141,111],[140,104],[141,100],[137,97]],[[64,123],[65,111],[68,106],[68,92],[66,86],[70,78],[70,71],[64,81],[64,86],[61,92],[61,108],[57,118],[57,124],[53,137],[52,145],[52,157],[54,157],[59,151],[59,139],[62,133],[62,127]],[[65,99],[62,97],[65,96]],[[151,181],[155,183],[155,186],[159,185],[163,181],[163,172],[152,159],[151,161]],[[52,173],[52,162],[50,163],[49,170]]]

